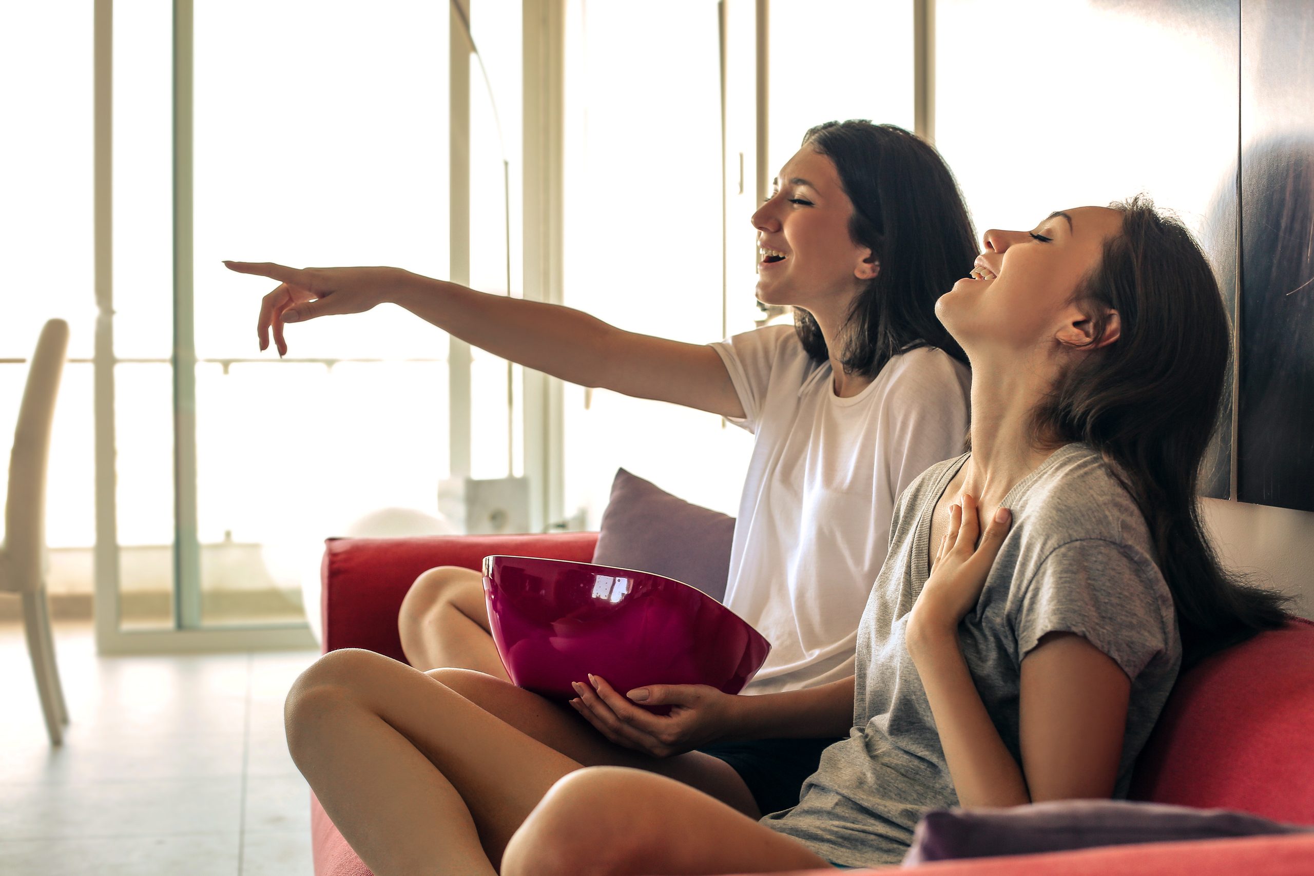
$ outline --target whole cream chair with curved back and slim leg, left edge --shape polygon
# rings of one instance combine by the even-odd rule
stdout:
[[[41,330],[32,356],[28,385],[22,391],[18,424],[9,454],[9,498],[5,503],[5,544],[0,545],[0,592],[22,596],[22,621],[28,634],[32,670],[37,676],[41,708],[51,745],[63,742],[68,724],[64,692],[55,665],[46,602],[46,466],[55,397],[68,352],[68,323],[51,319]]]

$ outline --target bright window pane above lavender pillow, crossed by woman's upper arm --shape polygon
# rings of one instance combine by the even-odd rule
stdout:
[[[574,0],[565,56],[565,303],[631,331],[717,340],[725,305],[717,4],[669,4],[653,14],[624,0]],[[746,215],[735,221],[748,225]],[[752,302],[753,290],[727,294]],[[624,465],[733,512],[749,447],[719,416],[568,386],[566,510],[595,527]]]

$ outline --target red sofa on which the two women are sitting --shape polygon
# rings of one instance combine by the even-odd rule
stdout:
[[[325,651],[365,647],[403,661],[397,612],[426,569],[478,569],[485,556],[498,553],[587,561],[595,541],[597,533],[330,540],[322,570]],[[1133,797],[1314,825],[1314,624],[1293,620],[1187,672],[1141,756]],[[310,804],[315,876],[368,876],[319,802],[311,797]],[[937,876],[1311,876],[1314,835],[982,858],[920,869]]]

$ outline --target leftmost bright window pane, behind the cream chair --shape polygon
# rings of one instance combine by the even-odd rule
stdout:
[[[70,5],[7,4],[0,11],[0,447],[9,449],[41,326],[67,319],[70,362],[55,412],[46,515],[47,580],[55,594],[88,590],[96,540],[92,21],[89,3]],[[0,495],[8,475],[5,457]]]

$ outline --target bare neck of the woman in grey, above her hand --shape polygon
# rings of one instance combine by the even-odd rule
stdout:
[[[993,515],[1018,481],[1054,452],[1037,448],[1031,411],[1053,378],[1038,362],[991,368],[972,362],[972,456],[964,466],[963,493]]]

